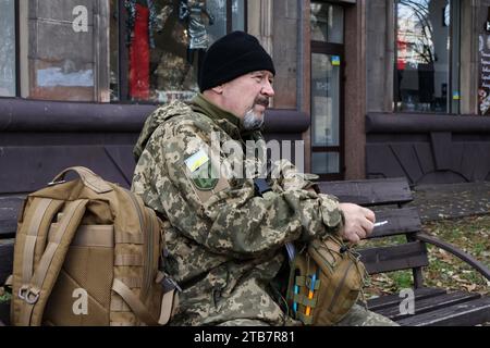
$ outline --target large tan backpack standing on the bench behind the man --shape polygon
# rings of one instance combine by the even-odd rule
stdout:
[[[64,182],[75,171],[79,178]],[[27,196],[14,247],[13,325],[167,324],[175,283],[159,272],[164,222],[85,167]]]

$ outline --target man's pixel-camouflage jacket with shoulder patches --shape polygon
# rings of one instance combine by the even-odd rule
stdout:
[[[339,231],[338,201],[306,190],[311,183],[284,161],[286,174],[270,181],[273,191],[264,197],[253,178],[203,175],[234,160],[224,151],[209,160],[211,134],[241,149],[244,137],[261,138],[258,132],[245,136],[240,119],[198,95],[189,105],[173,102],[150,114],[134,150],[132,189],[171,224],[166,271],[183,287],[172,324],[294,324],[269,284],[286,243]]]

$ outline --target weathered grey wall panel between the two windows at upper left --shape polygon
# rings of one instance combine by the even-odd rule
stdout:
[[[32,99],[109,101],[106,2],[29,1],[22,11],[28,30],[23,96],[25,90]]]

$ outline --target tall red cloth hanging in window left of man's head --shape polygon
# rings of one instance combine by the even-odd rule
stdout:
[[[136,3],[134,36],[130,48],[130,97],[149,98],[149,9]]]

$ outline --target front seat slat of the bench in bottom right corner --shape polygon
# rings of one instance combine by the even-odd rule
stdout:
[[[458,303],[397,321],[404,326],[473,326],[490,322],[490,297]]]

